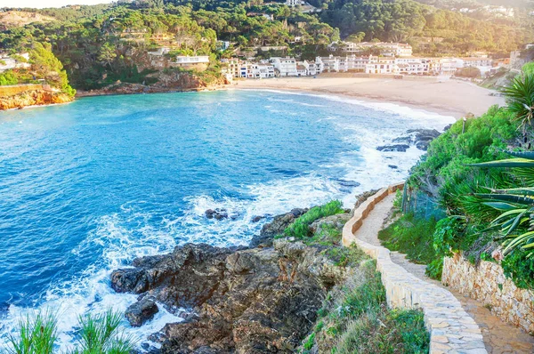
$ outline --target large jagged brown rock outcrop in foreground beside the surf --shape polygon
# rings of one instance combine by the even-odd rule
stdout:
[[[359,203],[370,195],[361,195]],[[132,326],[153,318],[157,303],[183,318],[150,335],[160,345],[144,342],[142,352],[294,352],[312,330],[328,291],[351,271],[341,261],[347,249],[340,238],[328,245],[320,241],[325,230],[341,235],[350,213],[314,221],[313,242],[277,237],[306,212],[274,217],[248,247],[186,244],[113,271],[115,291],[139,295],[125,313]]]

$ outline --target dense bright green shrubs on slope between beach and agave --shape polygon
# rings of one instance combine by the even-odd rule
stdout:
[[[465,129],[460,120],[431,142],[426,156],[412,169],[408,186],[437,197],[449,215],[484,213],[488,221],[495,213],[477,203],[470,193],[487,190],[483,186],[506,186],[507,175],[503,171],[482,172],[468,164],[506,157],[503,150],[514,144],[518,135],[506,109],[492,107],[481,117],[467,119]]]

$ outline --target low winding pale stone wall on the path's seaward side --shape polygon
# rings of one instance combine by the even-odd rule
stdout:
[[[344,225],[343,244],[358,245],[376,259],[376,270],[382,274],[388,305],[401,309],[421,309],[430,332],[430,352],[485,354],[482,334],[460,302],[449,291],[415,277],[400,265],[392,262],[390,251],[383,246],[370,245],[354,236],[363,220],[375,205],[401,189],[403,184],[380,189],[354,211],[354,216]]]

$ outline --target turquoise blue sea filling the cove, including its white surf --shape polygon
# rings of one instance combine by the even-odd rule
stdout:
[[[421,155],[376,151],[452,121],[394,105],[268,91],[85,98],[0,113],[0,346],[28,309],[77,316],[135,296],[109,272],[185,242],[246,245],[269,217],[401,181]],[[392,169],[388,165],[396,165]],[[207,220],[208,208],[231,218]],[[267,216],[253,223],[255,216]],[[161,311],[143,338],[174,315]]]

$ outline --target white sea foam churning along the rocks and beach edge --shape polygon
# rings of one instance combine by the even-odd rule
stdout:
[[[275,90],[263,90],[279,93]],[[411,165],[417,162],[422,151],[415,147],[407,152],[380,152],[376,147],[392,141],[408,127],[436,128],[454,122],[453,117],[443,117],[417,109],[409,109],[389,103],[370,103],[354,99],[323,94],[287,93],[308,95],[359,105],[365,109],[379,110],[393,114],[391,129],[377,131],[372,124],[361,125],[356,122],[340,122],[335,115],[322,117],[331,121],[334,128],[343,130],[344,141],[359,146],[351,152],[339,154],[331,159],[324,168],[344,171],[341,180],[331,180],[317,173],[303,173],[299,176],[243,186],[241,194],[245,197],[214,198],[210,196],[187,197],[187,207],[183,214],[169,213],[162,221],[154,224],[152,215],[144,212],[142,202],[123,205],[120,212],[105,215],[98,220],[97,228],[88,235],[81,245],[72,252],[82,255],[95,246],[101,249],[101,257],[79,277],[61,282],[44,295],[44,302],[38,309],[47,308],[57,312],[60,318],[59,332],[62,348],[72,344],[77,328],[77,318],[87,312],[95,313],[113,308],[124,311],[136,301],[133,294],[116,294],[109,286],[110,272],[124,267],[135,257],[166,253],[175,245],[186,242],[206,242],[211,245],[246,245],[252,235],[259,232],[268,219],[253,223],[255,216],[285,213],[295,207],[320,205],[333,198],[344,200],[349,207],[354,195],[364,190],[383,187],[401,181],[408,175]],[[269,100],[290,101],[295,100]],[[271,109],[271,106],[265,106]],[[273,112],[277,110],[272,109]],[[396,123],[395,123],[396,122]],[[397,166],[392,169],[389,165]],[[360,183],[355,187],[354,182]],[[222,221],[208,221],[206,209],[226,209],[230,218]],[[148,325],[132,328],[124,324],[126,334],[131,334],[139,342],[146,342],[148,334],[154,333],[166,323],[180,321],[159,306],[160,312]],[[0,349],[7,341],[7,334],[16,326],[18,318],[28,309],[12,306],[6,318],[0,321]]]

